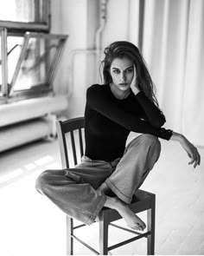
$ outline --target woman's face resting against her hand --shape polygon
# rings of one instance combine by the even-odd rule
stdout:
[[[127,57],[115,58],[110,68],[113,84],[120,90],[130,89],[134,76],[134,62]]]

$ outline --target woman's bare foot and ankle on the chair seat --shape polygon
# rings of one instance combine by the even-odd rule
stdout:
[[[146,227],[143,220],[141,220],[123,201],[119,200],[117,197],[106,196],[105,207],[109,207],[118,211],[118,213],[124,218],[127,226],[132,229],[137,229],[143,231]]]

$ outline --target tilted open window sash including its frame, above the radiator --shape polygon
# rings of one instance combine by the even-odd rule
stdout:
[[[16,68],[16,56],[8,58],[9,95],[30,95],[52,90],[56,64],[67,36],[26,33],[20,45],[21,53]],[[12,38],[11,38],[12,39]],[[15,38],[19,41],[22,38]],[[17,55],[17,53],[16,53]],[[10,59],[10,62],[9,62]]]

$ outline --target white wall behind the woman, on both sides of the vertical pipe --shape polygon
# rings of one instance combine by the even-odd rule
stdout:
[[[74,49],[94,49],[99,0],[51,0],[51,15],[51,32],[69,35],[54,79],[54,90],[67,93],[67,117],[80,116],[84,114],[87,87],[99,82],[99,63],[92,54],[78,54],[72,63],[71,53]],[[137,44],[137,20],[138,0],[108,0],[102,49],[118,40]]]

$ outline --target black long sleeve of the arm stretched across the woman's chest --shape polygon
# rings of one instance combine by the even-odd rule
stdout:
[[[129,131],[156,135],[160,138],[169,140],[171,132],[165,128],[160,128],[163,122],[163,115],[159,113],[158,108],[150,110],[150,102],[143,102],[142,107],[145,115],[148,117],[148,121],[143,121],[124,108],[119,107],[115,102],[110,99],[110,96],[106,93],[103,86],[93,85],[87,89],[86,102],[87,105],[99,114],[104,115],[106,118],[118,123],[120,126],[128,129]],[[142,101],[143,95],[137,96],[138,101]],[[152,107],[152,106],[151,106]],[[154,118],[150,115],[154,115]],[[159,125],[158,125],[159,123]]]

